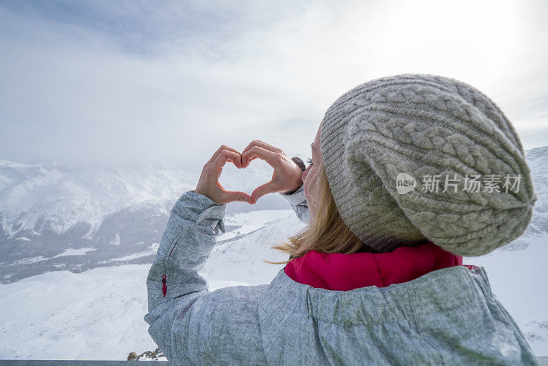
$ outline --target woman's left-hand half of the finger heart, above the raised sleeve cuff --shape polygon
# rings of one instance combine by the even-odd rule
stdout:
[[[205,195],[218,204],[227,204],[236,201],[251,204],[251,196],[247,193],[225,191],[225,188],[219,184],[219,176],[221,176],[221,172],[227,161],[233,162],[238,169],[242,168],[240,153],[236,149],[232,149],[232,147],[221,145],[211,159],[206,162],[206,165],[203,166],[195,193]]]

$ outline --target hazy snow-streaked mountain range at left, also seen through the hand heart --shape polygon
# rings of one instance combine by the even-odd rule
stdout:
[[[228,163],[221,184],[251,193],[272,169]],[[148,164],[27,165],[0,160],[0,283],[66,269],[151,263],[175,200],[199,171]],[[242,182],[243,184],[240,184]],[[287,208],[279,195],[227,214]]]

